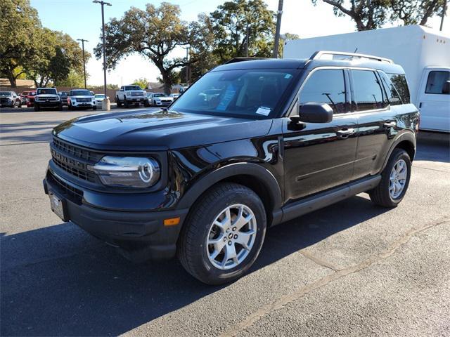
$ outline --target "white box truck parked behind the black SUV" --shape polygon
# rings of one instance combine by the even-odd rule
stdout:
[[[450,132],[450,34],[412,25],[288,40],[283,58],[310,58],[316,51],[363,53],[393,60],[406,72],[411,103],[420,110],[420,128]]]

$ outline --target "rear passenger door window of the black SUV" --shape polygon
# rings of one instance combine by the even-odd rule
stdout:
[[[378,77],[371,70],[352,70],[355,102],[358,111],[381,109],[385,106]]]

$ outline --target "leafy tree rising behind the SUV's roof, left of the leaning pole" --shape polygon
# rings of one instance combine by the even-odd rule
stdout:
[[[247,49],[249,56],[269,58],[274,45],[275,18],[263,0],[225,2],[210,14],[214,33],[212,53],[219,62],[245,56]]]

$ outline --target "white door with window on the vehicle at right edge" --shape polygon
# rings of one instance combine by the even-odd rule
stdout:
[[[418,95],[420,128],[450,131],[450,70],[425,68]]]

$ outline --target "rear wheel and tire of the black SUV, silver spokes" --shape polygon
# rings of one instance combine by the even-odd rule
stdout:
[[[397,207],[408,190],[411,178],[411,158],[403,149],[392,151],[387,165],[381,173],[377,187],[369,192],[374,204],[383,207]]]

